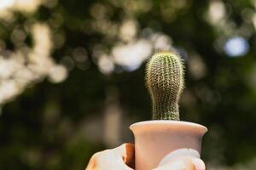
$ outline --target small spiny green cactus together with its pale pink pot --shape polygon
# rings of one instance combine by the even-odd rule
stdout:
[[[135,137],[136,169],[148,170],[177,156],[199,157],[207,127],[179,121],[178,101],[183,92],[183,60],[172,52],[154,54],[146,69],[152,101],[151,121],[131,125]]]

